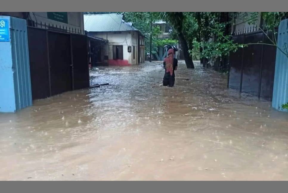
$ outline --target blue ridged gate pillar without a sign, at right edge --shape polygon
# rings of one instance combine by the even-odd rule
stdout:
[[[288,19],[279,25],[277,43],[282,51],[288,52]],[[272,107],[287,111],[282,109],[282,105],[288,102],[288,58],[279,48],[276,53]]]

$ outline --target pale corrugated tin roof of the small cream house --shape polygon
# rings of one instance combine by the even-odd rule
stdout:
[[[84,29],[87,32],[139,31],[131,22],[125,22],[122,14],[84,15]]]

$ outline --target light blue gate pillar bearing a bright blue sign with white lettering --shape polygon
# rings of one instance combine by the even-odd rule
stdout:
[[[0,112],[15,112],[32,105],[26,20],[0,16],[0,36],[6,33],[8,39],[0,37]]]

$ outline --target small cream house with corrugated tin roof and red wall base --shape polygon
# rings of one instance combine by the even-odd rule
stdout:
[[[131,66],[145,61],[144,35],[132,23],[125,22],[123,14],[84,15],[87,35],[106,40],[107,45],[93,47],[100,63],[110,66]],[[98,59],[100,60],[100,58]]]

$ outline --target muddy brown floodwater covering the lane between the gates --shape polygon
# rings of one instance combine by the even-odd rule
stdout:
[[[288,113],[197,62],[163,87],[160,64],[1,113],[0,180],[288,180]]]

